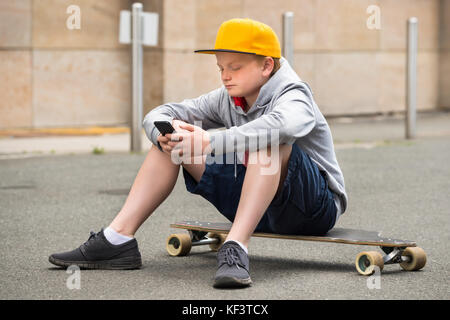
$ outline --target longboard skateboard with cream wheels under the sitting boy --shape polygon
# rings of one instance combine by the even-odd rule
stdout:
[[[171,256],[187,255],[192,246],[209,245],[217,251],[223,244],[231,223],[181,221],[171,224],[172,228],[186,229],[188,234],[171,234],[167,238],[166,249]],[[274,233],[253,233],[254,237],[291,239],[304,241],[334,242],[354,245],[379,246],[378,251],[364,251],[356,256],[356,270],[362,275],[371,275],[376,267],[381,271],[386,264],[398,263],[407,271],[422,269],[427,261],[425,251],[414,241],[381,237],[380,232],[346,228],[333,228],[324,236],[288,235]]]

